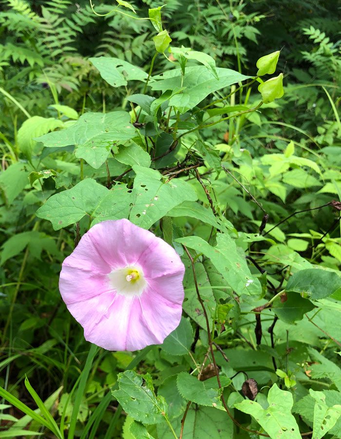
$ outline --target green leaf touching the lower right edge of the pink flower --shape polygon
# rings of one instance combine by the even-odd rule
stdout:
[[[179,326],[166,337],[160,347],[171,355],[186,355],[192,342],[192,325],[188,319],[182,317]]]

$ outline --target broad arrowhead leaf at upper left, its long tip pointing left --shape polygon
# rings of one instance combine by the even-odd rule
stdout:
[[[76,145],[76,157],[84,159],[98,169],[107,159],[114,143],[130,140],[135,136],[126,111],[112,113],[86,113],[65,130],[35,138],[45,147]]]

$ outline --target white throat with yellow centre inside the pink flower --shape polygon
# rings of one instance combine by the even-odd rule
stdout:
[[[127,297],[140,296],[147,285],[141,267],[132,265],[113,270],[108,279],[117,294]]]

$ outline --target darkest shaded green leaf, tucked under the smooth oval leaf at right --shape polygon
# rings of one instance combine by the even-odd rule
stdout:
[[[304,299],[298,293],[289,291],[286,294],[286,300],[281,302],[281,298],[277,298],[271,309],[281,320],[294,323],[297,320],[302,320],[304,314],[314,308],[315,305],[310,300]]]

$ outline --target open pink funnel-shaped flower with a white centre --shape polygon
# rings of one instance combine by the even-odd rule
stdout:
[[[108,350],[162,343],[179,324],[185,267],[129,220],[94,225],[62,266],[60,294],[86,340]]]

